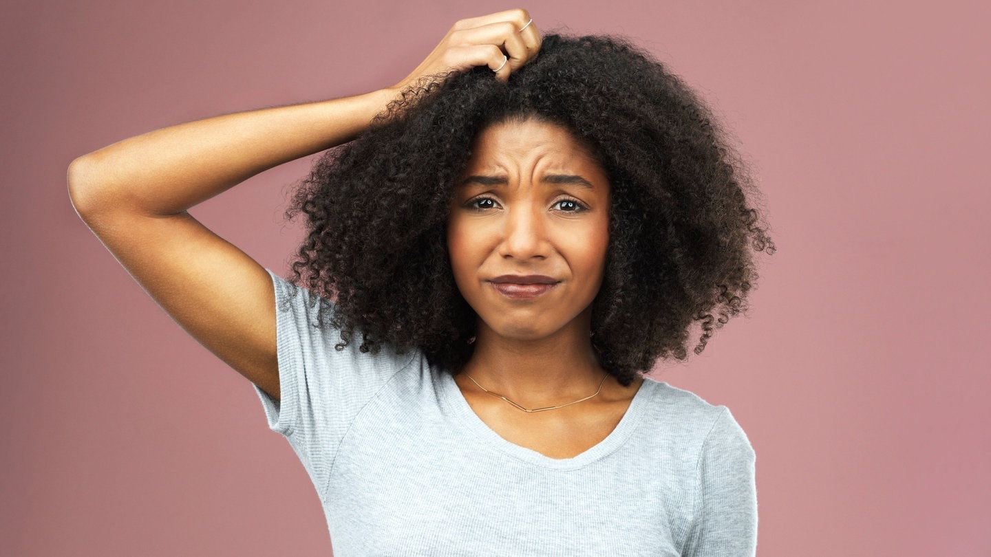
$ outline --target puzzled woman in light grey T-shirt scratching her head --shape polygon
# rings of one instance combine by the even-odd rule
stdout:
[[[295,284],[185,212],[347,142],[296,197]],[[510,10],[393,87],[132,138],[69,190],[258,388],[335,554],[750,555],[743,431],[641,375],[744,308],[773,250],[744,178],[660,64]]]

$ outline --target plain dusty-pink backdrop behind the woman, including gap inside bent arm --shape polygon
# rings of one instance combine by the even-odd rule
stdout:
[[[254,392],[89,234],[64,172],[179,121],[391,83],[506,7],[463,4],[4,3],[0,554],[329,554]],[[779,252],[750,316],[654,377],[747,431],[765,557],[991,555],[991,3],[881,4],[527,6],[671,62],[757,172]],[[193,212],[284,271],[306,168]]]

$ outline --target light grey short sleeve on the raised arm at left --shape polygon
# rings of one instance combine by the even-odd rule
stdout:
[[[360,341],[338,350],[340,331],[329,325],[332,304],[269,275],[275,288],[280,400],[255,390],[269,427],[288,439],[322,498],[337,448],[355,417],[411,357],[386,348],[362,352]]]

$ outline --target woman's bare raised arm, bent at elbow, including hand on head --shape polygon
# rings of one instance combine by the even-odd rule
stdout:
[[[350,141],[423,77],[489,65],[508,78],[539,50],[535,26],[518,31],[528,21],[524,10],[510,10],[458,22],[412,73],[379,91],[180,124],[85,155],[68,170],[72,203],[179,325],[277,399],[271,278],[186,210],[267,168]]]

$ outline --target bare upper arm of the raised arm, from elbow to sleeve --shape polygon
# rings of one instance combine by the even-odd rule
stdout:
[[[279,397],[272,278],[187,212],[151,215],[110,189],[87,187],[76,161],[69,191],[80,217],[118,262],[200,344]]]

